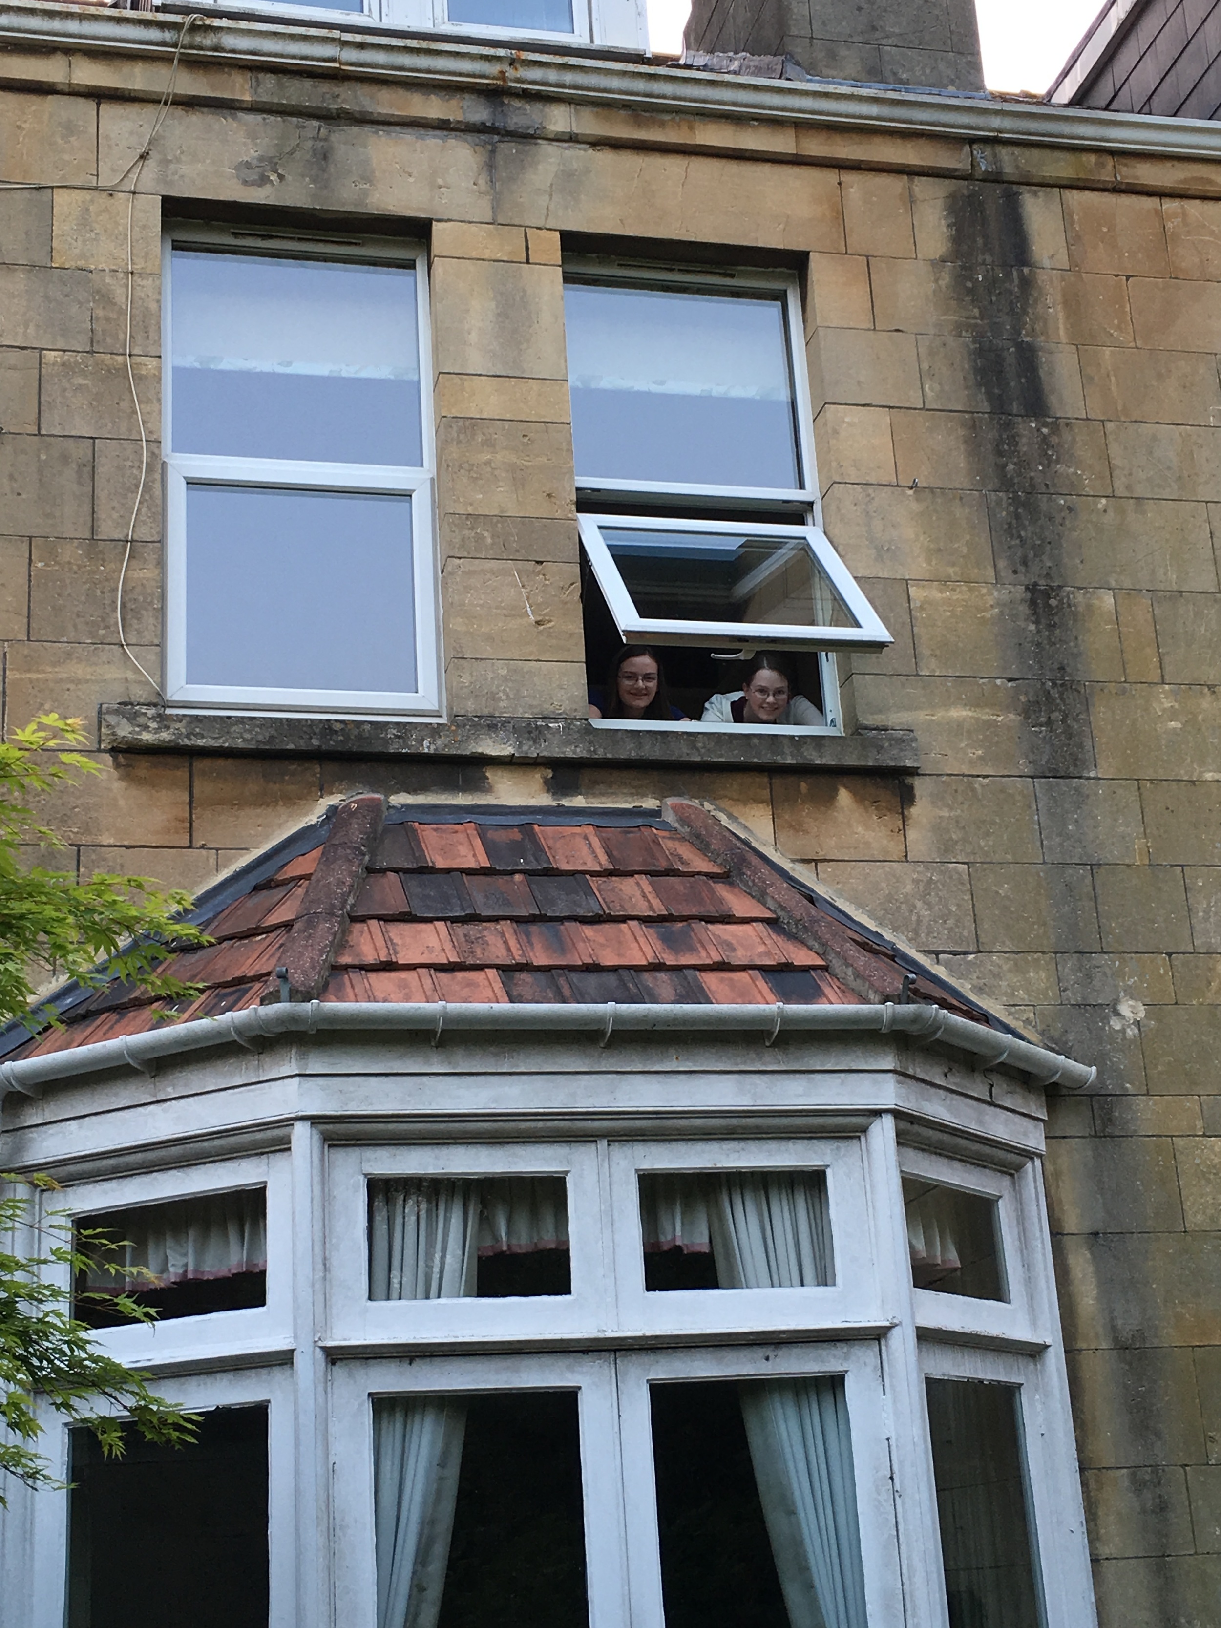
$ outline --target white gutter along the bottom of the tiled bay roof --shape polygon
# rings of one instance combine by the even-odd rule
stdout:
[[[1081,1091],[1097,1070],[1073,1063],[1016,1035],[998,1034],[941,1006],[617,1006],[606,1004],[451,1004],[308,1001],[251,1006],[225,1017],[204,1017],[179,1027],[153,1029],[117,1040],[99,1040],[0,1065],[0,1096],[16,1091],[37,1097],[52,1079],[93,1074],[107,1068],[153,1073],[164,1058],[215,1045],[257,1052],[265,1040],[296,1034],[417,1032],[433,1044],[449,1034],[545,1032],[589,1034],[606,1045],[619,1034],[760,1034],[767,1045],[781,1035],[869,1031],[902,1034],[917,1045],[949,1045],[978,1058],[983,1068],[1006,1065],[1044,1086]]]

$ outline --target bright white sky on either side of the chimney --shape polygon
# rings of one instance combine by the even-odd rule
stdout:
[[[1102,0],[975,0],[988,88],[1045,91],[1101,5]],[[654,50],[682,50],[689,10],[689,0],[648,0]]]

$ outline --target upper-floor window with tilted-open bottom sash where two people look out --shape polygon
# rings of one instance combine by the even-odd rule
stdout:
[[[591,702],[630,723],[602,672],[650,645],[679,715],[742,728],[734,661],[785,651],[783,728],[838,733],[835,651],[891,633],[822,531],[796,280],[578,260],[565,324]]]

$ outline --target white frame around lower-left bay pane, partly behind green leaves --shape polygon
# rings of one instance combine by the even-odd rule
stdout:
[[[296,1628],[296,1428],[293,1407],[293,1374],[290,1368],[234,1369],[233,1372],[176,1374],[155,1382],[166,1395],[187,1408],[267,1408],[267,1555],[270,1608],[269,1628]],[[99,1408],[99,1413],[107,1411]],[[60,1481],[68,1472],[68,1429],[57,1415],[44,1408],[46,1431],[39,1451],[50,1460]],[[63,1628],[67,1613],[68,1491],[44,1488],[29,1499],[33,1527],[31,1618],[29,1628]],[[138,1543],[133,1543],[133,1551]]]

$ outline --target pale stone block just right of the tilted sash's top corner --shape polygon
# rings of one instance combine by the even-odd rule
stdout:
[[[977,492],[837,482],[822,521],[855,576],[991,581],[988,510]]]

